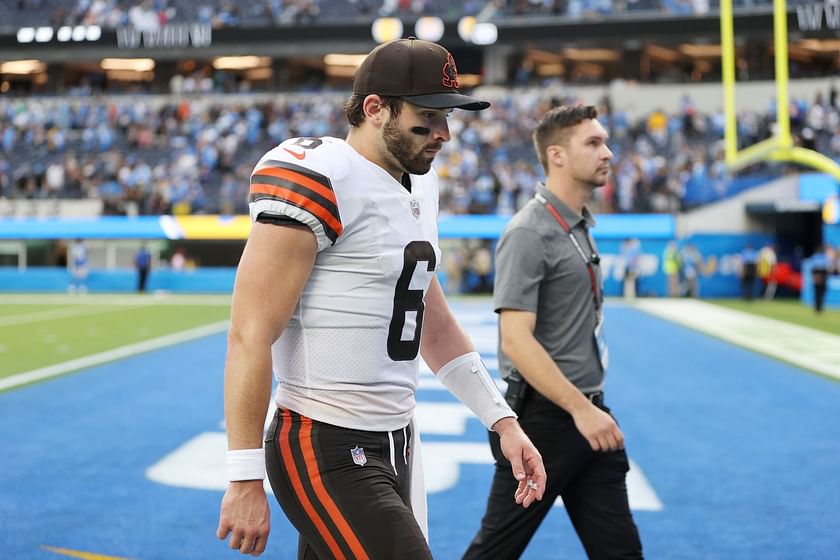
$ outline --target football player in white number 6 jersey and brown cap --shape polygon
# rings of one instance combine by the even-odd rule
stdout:
[[[243,554],[266,546],[267,470],[300,533],[298,558],[431,558],[412,422],[419,354],[499,434],[519,481],[511,500],[542,498],[542,459],[435,278],[432,161],[453,108],[489,106],[458,88],[443,47],[380,45],[354,77],[346,140],[287,140],[254,169],[228,335],[230,483],[217,533]],[[272,369],[277,412],[263,437]]]

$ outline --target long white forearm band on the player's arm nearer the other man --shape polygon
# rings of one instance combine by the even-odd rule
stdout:
[[[488,430],[502,418],[516,418],[478,352],[469,352],[445,364],[437,372],[437,378]]]

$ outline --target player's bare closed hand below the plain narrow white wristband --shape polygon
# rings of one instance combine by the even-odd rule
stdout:
[[[259,556],[268,542],[269,511],[262,480],[229,482],[216,536],[242,554]]]

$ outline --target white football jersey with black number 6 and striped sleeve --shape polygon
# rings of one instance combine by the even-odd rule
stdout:
[[[274,399],[329,424],[390,431],[414,411],[423,298],[440,263],[437,175],[411,192],[338,138],[293,138],[251,175],[251,219],[308,225],[318,255],[272,346]]]

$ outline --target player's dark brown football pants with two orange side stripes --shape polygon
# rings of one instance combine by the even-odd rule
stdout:
[[[408,428],[367,432],[278,410],[266,433],[274,496],[300,533],[299,560],[428,560],[410,505]]]

